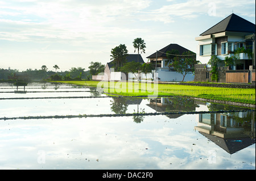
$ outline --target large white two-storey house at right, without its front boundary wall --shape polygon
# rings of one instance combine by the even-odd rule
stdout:
[[[210,57],[214,55],[225,60],[225,57],[234,56],[238,48],[252,50],[253,33],[255,33],[255,24],[236,14],[231,14],[196,37],[198,42],[196,60],[199,60],[201,64],[208,64]],[[236,56],[240,61],[232,67],[232,70],[249,70],[249,66],[253,65],[252,57],[247,53],[240,53]]]

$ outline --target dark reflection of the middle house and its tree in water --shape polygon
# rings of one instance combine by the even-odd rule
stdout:
[[[151,99],[150,104],[147,104],[147,106],[152,108],[156,112],[195,111],[197,107],[197,105],[194,103],[194,100],[178,96]],[[182,115],[184,114],[170,114],[165,116],[173,119]]]

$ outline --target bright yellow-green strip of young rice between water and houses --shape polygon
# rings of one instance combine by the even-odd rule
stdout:
[[[55,81],[58,82],[58,81]],[[255,89],[235,89],[226,87],[206,87],[141,82],[98,82],[98,81],[59,81],[73,85],[97,87],[101,83],[104,92],[123,96],[189,96],[196,98],[222,100],[255,104]]]

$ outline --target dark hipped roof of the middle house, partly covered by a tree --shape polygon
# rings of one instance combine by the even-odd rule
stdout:
[[[166,57],[166,52],[167,51],[170,51],[171,49],[176,49],[179,51],[180,54],[183,54],[183,52],[187,52],[187,51],[190,51],[188,50],[187,48],[184,48],[184,47],[181,47],[180,45],[178,44],[170,44],[170,45],[167,45],[166,47],[158,50],[158,57]],[[192,52],[192,51],[190,51]],[[156,52],[151,54],[150,56],[146,57],[146,58],[156,58]]]

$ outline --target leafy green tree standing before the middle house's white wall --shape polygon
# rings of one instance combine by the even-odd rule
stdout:
[[[184,52],[182,56],[174,57],[174,61],[171,63],[171,66],[175,71],[183,75],[183,79],[181,81],[183,82],[187,74],[195,71],[195,64],[198,62],[199,61],[196,60],[196,54],[188,51]]]

